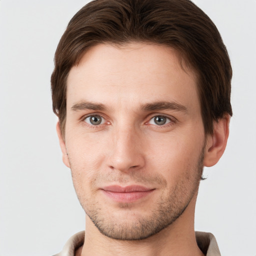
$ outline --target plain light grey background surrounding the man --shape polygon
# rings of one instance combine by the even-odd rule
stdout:
[[[53,54],[87,1],[0,0],[0,255],[52,255],[84,229],[51,110]],[[205,169],[195,229],[222,255],[256,255],[256,1],[194,0],[215,22],[233,66],[230,137]]]

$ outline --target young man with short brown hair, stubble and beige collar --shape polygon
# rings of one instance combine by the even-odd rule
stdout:
[[[58,256],[220,255],[194,209],[226,146],[231,73],[189,0],[95,0],[74,15],[51,87],[86,227]]]

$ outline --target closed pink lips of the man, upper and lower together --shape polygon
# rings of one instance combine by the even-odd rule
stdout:
[[[148,188],[141,185],[119,186],[111,185],[101,188],[102,192],[117,202],[134,202],[149,195],[154,188]]]

